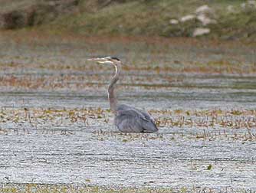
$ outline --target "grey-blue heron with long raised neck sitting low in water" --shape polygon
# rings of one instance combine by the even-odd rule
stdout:
[[[116,74],[113,76],[110,86],[108,87],[108,97],[110,100],[110,110],[114,114],[114,123],[121,132],[156,132],[158,131],[149,113],[143,110],[117,104],[117,96],[114,92],[117,80],[119,80],[122,62],[117,57],[96,57],[88,61],[95,61],[100,64],[113,64]]]

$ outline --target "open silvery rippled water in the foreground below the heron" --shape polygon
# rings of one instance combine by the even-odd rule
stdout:
[[[86,129],[85,129],[86,130]],[[133,136],[133,135],[130,135]],[[2,182],[256,188],[254,142],[149,139],[113,132],[1,136]],[[207,170],[212,165],[211,170]],[[8,178],[8,180],[6,179]]]

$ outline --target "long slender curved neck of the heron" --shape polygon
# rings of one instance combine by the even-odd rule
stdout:
[[[110,82],[110,86],[108,87],[108,97],[109,97],[109,100],[110,100],[110,110],[114,114],[117,113],[117,96],[116,96],[116,93],[115,93],[115,86],[116,86],[117,80],[119,80],[121,65],[116,64],[115,69],[116,69],[116,74],[113,76],[113,78]]]

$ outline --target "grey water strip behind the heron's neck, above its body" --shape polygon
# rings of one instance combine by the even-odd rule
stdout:
[[[24,74],[20,76],[25,76]],[[29,75],[26,75],[29,76]],[[39,76],[39,75],[37,75]],[[136,74],[132,75],[136,77]],[[165,75],[166,76],[166,75]],[[142,82],[147,75],[140,75],[139,83],[121,80],[117,89],[120,103],[133,104],[146,109],[255,109],[256,77],[229,76],[181,76],[169,75],[174,83]],[[131,75],[127,75],[129,79]],[[160,76],[161,77],[161,76]],[[94,77],[92,77],[94,78]],[[110,77],[108,77],[110,78]],[[90,79],[90,78],[88,78]],[[72,87],[74,83],[64,83],[61,89],[47,90],[3,90],[0,93],[1,106],[13,107],[71,107],[91,106],[109,108],[107,82],[103,74],[95,80],[95,87]],[[159,80],[163,82],[164,80]],[[67,86],[68,84],[68,86]],[[100,86],[98,86],[100,85]],[[128,86],[127,86],[128,85]],[[19,91],[20,90],[20,91]]]

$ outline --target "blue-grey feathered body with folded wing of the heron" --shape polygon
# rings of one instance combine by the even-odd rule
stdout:
[[[117,109],[115,123],[122,132],[156,132],[158,130],[148,113],[126,105]]]

